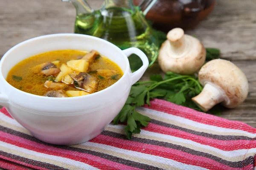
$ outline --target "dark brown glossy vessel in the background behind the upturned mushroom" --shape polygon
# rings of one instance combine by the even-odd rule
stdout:
[[[139,5],[143,0],[134,0]],[[172,28],[194,28],[213,10],[215,0],[157,0],[148,11],[146,19],[153,21],[153,27],[161,31]]]

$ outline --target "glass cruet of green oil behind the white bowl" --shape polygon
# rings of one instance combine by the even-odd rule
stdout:
[[[150,65],[157,59],[160,44],[144,17],[157,0],[143,0],[138,7],[132,0],[105,0],[99,10],[93,10],[85,0],[62,1],[76,7],[75,33],[105,39],[122,50],[140,48]],[[140,11],[141,8],[145,10]],[[129,57],[129,62],[132,71],[142,66],[135,54]]]

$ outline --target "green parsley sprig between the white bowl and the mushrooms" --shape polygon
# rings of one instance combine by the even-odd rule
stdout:
[[[125,133],[131,139],[132,133],[140,133],[141,127],[146,127],[150,118],[138,113],[137,106],[150,105],[151,98],[166,99],[169,102],[200,110],[191,100],[202,91],[195,76],[178,75],[168,72],[164,79],[161,75],[153,75],[150,81],[137,82],[131,87],[131,92],[120,113],[113,120],[114,125],[125,123]]]

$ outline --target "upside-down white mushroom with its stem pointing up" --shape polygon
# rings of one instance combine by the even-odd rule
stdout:
[[[158,62],[164,72],[190,75],[198,71],[206,59],[204,45],[195,37],[174,28],[160,48]]]

